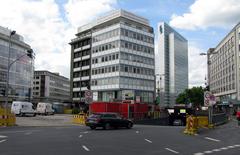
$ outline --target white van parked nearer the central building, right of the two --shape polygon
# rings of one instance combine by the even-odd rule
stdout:
[[[37,105],[37,113],[40,115],[53,115],[54,110],[52,109],[52,104],[39,102]]]

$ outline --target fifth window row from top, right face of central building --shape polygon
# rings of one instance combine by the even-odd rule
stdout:
[[[134,73],[134,74],[142,74],[142,75],[154,75],[153,69],[135,67],[135,66],[129,66],[129,65],[123,65],[123,64],[121,64],[120,66],[120,71],[127,72],[127,73]]]

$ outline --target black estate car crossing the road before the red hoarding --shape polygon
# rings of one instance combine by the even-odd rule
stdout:
[[[117,113],[94,113],[87,118],[86,126],[89,126],[91,129],[96,129],[97,127],[102,127],[103,129],[126,127],[130,129],[133,127],[133,122],[122,118]]]

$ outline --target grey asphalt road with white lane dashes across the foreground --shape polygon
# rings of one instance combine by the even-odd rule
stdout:
[[[238,155],[240,128],[231,122],[196,136],[183,127],[135,125],[90,130],[85,126],[0,128],[1,155]]]

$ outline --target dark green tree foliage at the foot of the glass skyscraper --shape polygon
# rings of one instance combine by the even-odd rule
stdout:
[[[177,104],[192,104],[193,107],[199,107],[204,104],[204,89],[202,87],[193,87],[185,89],[176,99]]]

